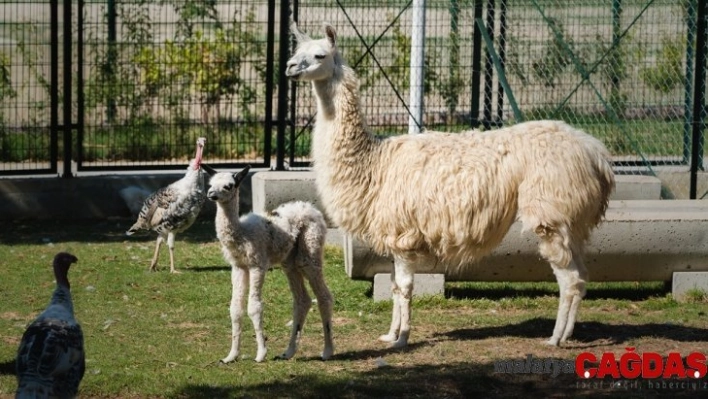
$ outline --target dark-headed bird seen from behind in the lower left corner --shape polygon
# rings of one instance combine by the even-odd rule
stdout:
[[[84,376],[84,337],[74,318],[68,279],[78,260],[54,257],[57,287],[49,306],[27,327],[17,351],[17,398],[73,398]]]

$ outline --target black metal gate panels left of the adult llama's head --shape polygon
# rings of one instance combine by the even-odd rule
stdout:
[[[0,174],[269,166],[275,3],[3,3]]]

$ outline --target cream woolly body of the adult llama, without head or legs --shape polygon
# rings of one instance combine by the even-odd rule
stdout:
[[[370,153],[359,164],[337,161],[344,154],[334,149],[343,143],[321,148],[322,136],[344,135],[334,129],[343,124],[319,122],[313,158],[326,210],[381,254],[429,252],[450,265],[471,262],[491,252],[517,216],[525,229],[565,226],[584,241],[614,185],[602,144],[563,122],[367,137]]]

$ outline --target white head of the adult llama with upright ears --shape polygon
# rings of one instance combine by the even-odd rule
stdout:
[[[295,55],[290,57],[285,75],[294,80],[318,81],[332,77],[342,59],[337,51],[335,32],[332,25],[325,25],[325,37],[313,40],[300,31],[295,23],[291,28],[297,39]]]

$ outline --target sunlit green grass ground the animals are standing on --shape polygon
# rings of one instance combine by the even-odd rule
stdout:
[[[147,272],[153,236],[125,237],[130,223],[4,223],[0,398],[15,389],[17,345],[49,300],[50,262],[58,251],[79,258],[70,280],[86,344],[81,397],[641,397],[641,391],[578,388],[574,375],[495,374],[493,361],[527,353],[573,359],[584,351],[622,353],[625,346],[660,353],[708,348],[705,298],[679,304],[661,282],[591,284],[575,339],[565,348],[542,344],[553,328],[554,283],[448,283],[446,298],[414,301],[410,346],[391,350],[376,341],[388,328],[390,301],[374,303],[371,284],[351,281],[341,251],[328,248],[335,357],[318,360],[322,328],[313,309],[295,358],[272,359],[287,346],[291,309],[283,273],[274,270],[264,291],[267,360],[252,360],[255,340],[246,319],[241,358],[222,365],[218,360],[229,350],[230,269],[213,223],[199,221],[178,237],[178,275],[167,273],[166,253],[161,270]]]

